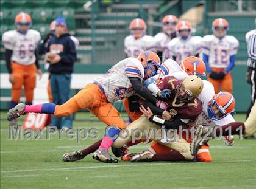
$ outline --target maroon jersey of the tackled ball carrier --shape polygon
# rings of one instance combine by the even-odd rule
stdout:
[[[170,89],[172,91],[171,98],[166,101],[168,103],[167,111],[170,112],[171,117],[189,119],[193,122],[202,112],[202,102],[195,98],[189,103],[177,103],[176,87],[181,82],[173,76],[166,76],[160,83],[160,89]]]

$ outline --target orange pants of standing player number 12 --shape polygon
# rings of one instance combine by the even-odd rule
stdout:
[[[223,69],[212,69],[215,72],[221,72]],[[210,77],[207,77],[207,80],[210,81],[210,83],[213,84],[215,94],[219,93],[219,91],[226,91],[230,92],[232,94],[233,91],[233,80],[232,80],[232,74],[229,72],[225,75],[224,79],[222,80],[214,80]]]

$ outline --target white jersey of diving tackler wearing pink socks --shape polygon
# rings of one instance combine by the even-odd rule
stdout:
[[[107,100],[112,103],[135,94],[129,77],[144,78],[144,67],[137,58],[126,58],[119,61],[103,76],[94,81],[104,88]]]

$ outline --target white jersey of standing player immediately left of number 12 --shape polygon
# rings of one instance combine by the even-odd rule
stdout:
[[[168,43],[168,54],[165,57],[176,57],[177,63],[181,64],[184,58],[201,53],[201,41],[201,36],[188,36],[185,40],[180,36],[173,38]]]

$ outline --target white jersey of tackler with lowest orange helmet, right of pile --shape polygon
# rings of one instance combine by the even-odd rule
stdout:
[[[208,112],[207,112],[207,105],[208,102],[210,100],[212,100],[212,98],[215,95],[215,91],[214,91],[214,87],[213,84],[210,83],[207,80],[203,80],[204,83],[204,87],[202,89],[202,92],[199,94],[198,99],[202,102],[202,108],[203,111],[201,112],[201,114],[198,116],[198,119],[196,121],[196,125],[208,125],[208,126],[223,126],[226,125],[228,123],[231,122],[235,122],[235,119],[233,119],[232,115],[229,114],[226,117],[220,119],[220,120],[212,120],[210,119],[210,117],[208,116]]]

